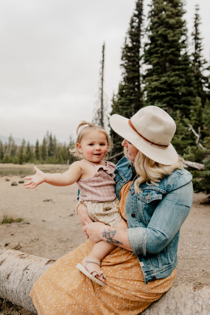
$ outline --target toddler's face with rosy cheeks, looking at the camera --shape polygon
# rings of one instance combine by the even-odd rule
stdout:
[[[77,148],[87,161],[97,163],[104,159],[107,151],[106,136],[99,131],[92,130],[85,135]]]

